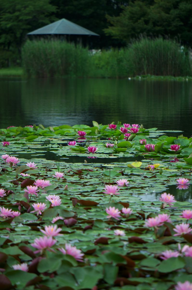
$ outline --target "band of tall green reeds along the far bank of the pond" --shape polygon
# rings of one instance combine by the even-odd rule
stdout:
[[[29,77],[192,76],[189,50],[163,38],[141,38],[127,48],[95,54],[66,41],[27,41],[22,62]]]

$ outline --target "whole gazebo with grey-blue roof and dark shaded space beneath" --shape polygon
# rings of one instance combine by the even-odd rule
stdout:
[[[87,45],[88,37],[99,36],[99,34],[92,32],[82,26],[79,26],[67,19],[60,19],[51,24],[45,25],[38,28],[32,32],[27,33],[27,35],[34,37],[56,37],[60,39],[65,39],[67,41],[74,41],[77,43],[82,43]]]

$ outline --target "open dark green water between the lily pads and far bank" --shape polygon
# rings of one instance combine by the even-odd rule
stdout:
[[[0,126],[115,121],[191,136],[191,81],[0,78]],[[171,134],[169,134],[171,135]]]

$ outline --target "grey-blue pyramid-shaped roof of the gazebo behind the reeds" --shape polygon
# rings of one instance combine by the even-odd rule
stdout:
[[[92,32],[82,26],[79,26],[67,19],[60,19],[56,22],[38,28],[27,35],[43,35],[43,34],[70,34],[70,35],[95,35],[99,34]]]

